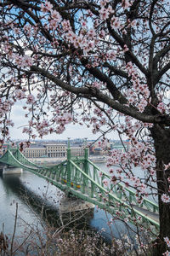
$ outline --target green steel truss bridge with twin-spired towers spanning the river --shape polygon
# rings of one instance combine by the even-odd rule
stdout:
[[[83,158],[72,158],[69,143],[67,159],[49,167],[39,166],[26,159],[19,148],[8,147],[0,163],[21,167],[46,179],[62,191],[110,212],[115,218],[127,218],[129,222],[139,224],[155,235],[158,233],[159,209],[156,203],[144,198],[142,204],[139,204],[135,192],[122,183],[112,184],[111,176],[88,160],[88,148],[85,148]],[[108,182],[107,186],[104,180]]]

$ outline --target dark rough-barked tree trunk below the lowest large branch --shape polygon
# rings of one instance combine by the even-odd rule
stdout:
[[[170,168],[165,170],[165,166],[170,162],[170,129],[165,126],[154,125],[151,129],[151,136],[154,139],[156,149],[156,182],[158,191],[160,234],[156,239],[153,256],[161,256],[167,251],[164,237],[170,239],[170,203],[161,201],[161,195],[170,195],[168,192],[170,183]]]

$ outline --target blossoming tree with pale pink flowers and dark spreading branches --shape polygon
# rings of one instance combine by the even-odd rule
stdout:
[[[139,201],[147,188],[156,191],[154,255],[168,253],[170,238],[169,6],[167,0],[0,2],[2,143],[14,125],[15,102],[24,104],[30,138],[59,134],[71,122],[102,132],[104,147],[106,132],[125,134],[131,148],[112,150],[107,165],[112,183],[133,186]],[[135,177],[135,166],[144,178]]]

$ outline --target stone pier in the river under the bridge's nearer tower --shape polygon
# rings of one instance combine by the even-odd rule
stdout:
[[[82,199],[68,196],[65,194],[59,201],[59,213],[77,212],[82,210],[94,209],[94,204],[83,201]]]

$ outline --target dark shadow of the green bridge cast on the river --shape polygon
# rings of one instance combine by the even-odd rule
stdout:
[[[30,211],[35,212],[46,224],[56,229],[63,226],[64,230],[73,228],[78,230],[90,229],[90,220],[94,218],[94,209],[62,213],[61,216],[59,213],[59,197],[62,198],[62,193],[59,192],[56,199],[52,199],[50,196],[50,201],[48,202],[48,196],[43,198],[43,193],[38,195],[28,188],[26,183],[20,180],[20,174],[3,176],[2,172],[0,172],[0,177],[3,179],[3,186],[7,193],[17,196],[26,207],[30,208]]]

